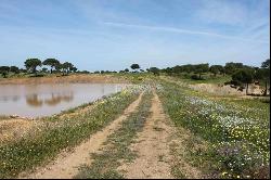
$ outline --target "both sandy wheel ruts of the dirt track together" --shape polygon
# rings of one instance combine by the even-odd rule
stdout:
[[[149,115],[143,130],[138,132],[134,140],[128,147],[137,154],[132,162],[121,162],[117,167],[119,175],[127,179],[173,179],[183,176],[184,178],[201,178],[201,171],[185,162],[185,143],[190,132],[185,129],[175,127],[169,117],[164,113],[162,102],[153,91],[151,115]],[[22,175],[20,178],[67,178],[79,175],[81,165],[93,163],[90,154],[103,153],[107,138],[120,129],[122,123],[140,105],[142,93],[139,99],[129,105],[124,114],[115,119],[102,131],[91,136],[90,139],[75,147],[73,153],[62,153],[56,160],[46,167],[37,168],[35,173]],[[121,137],[117,137],[121,139]],[[108,146],[113,144],[107,144]],[[111,166],[111,165],[106,165]],[[178,170],[178,176],[173,172]]]

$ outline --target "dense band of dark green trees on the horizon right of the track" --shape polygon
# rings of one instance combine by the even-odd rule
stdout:
[[[246,85],[248,89],[248,83],[259,83],[260,81],[264,82],[267,94],[268,83],[270,83],[270,60],[266,60],[261,63],[260,67],[244,65],[243,63],[225,63],[222,65],[211,65],[206,64],[186,64],[186,65],[177,65],[175,67],[167,67],[159,69],[157,67],[151,67],[147,72],[152,72],[154,75],[159,75],[160,73],[167,74],[169,76],[180,76],[185,75],[191,79],[204,80],[203,75],[211,73],[214,77],[217,75],[221,76],[231,76],[232,80],[230,83],[234,86]]]

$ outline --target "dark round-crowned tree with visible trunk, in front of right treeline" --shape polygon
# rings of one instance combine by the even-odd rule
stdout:
[[[241,69],[232,75],[232,80],[246,83],[246,94],[248,93],[248,83],[253,82],[253,72],[249,69]]]

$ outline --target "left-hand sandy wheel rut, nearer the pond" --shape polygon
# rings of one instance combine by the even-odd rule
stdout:
[[[121,116],[115,119],[102,131],[92,134],[89,140],[76,146],[72,153],[63,152],[54,162],[50,163],[46,167],[37,168],[37,170],[31,175],[27,175],[25,172],[18,177],[28,179],[73,178],[79,172],[78,167],[80,165],[91,164],[92,159],[90,157],[90,153],[98,152],[102,144],[106,141],[107,137],[119,128],[121,121],[124,121],[130,113],[136,111],[141,101],[141,97],[142,94],[140,94],[138,100],[125,110]]]

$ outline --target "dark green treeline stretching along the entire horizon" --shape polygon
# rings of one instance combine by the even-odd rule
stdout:
[[[88,70],[78,72],[78,69],[69,62],[61,63],[55,59],[47,59],[41,62],[39,59],[28,59],[25,61],[25,69],[18,68],[16,66],[0,66],[0,74],[5,77],[9,73],[33,73],[37,76],[37,67],[41,66],[49,66],[50,73],[62,73],[63,75],[67,75],[70,72],[74,73],[82,73],[89,74]],[[125,68],[124,70],[95,70],[93,74],[112,74],[112,73],[144,73],[145,70],[140,67],[139,64],[132,64],[130,66],[132,69],[131,72],[129,68]],[[40,72],[49,73],[47,67],[43,67]],[[233,63],[229,62],[225,65],[209,65],[206,64],[185,64],[185,65],[177,65],[173,67],[166,67],[166,68],[157,68],[157,67],[150,67],[146,69],[147,73],[152,73],[154,75],[166,74],[169,76],[186,76],[194,80],[204,80],[205,78],[203,75],[205,74],[212,74],[214,77],[217,75],[220,76],[231,76],[232,80],[230,83],[234,86],[243,86],[257,82],[259,83],[264,82],[267,94],[268,83],[270,83],[270,60],[266,60],[261,63],[260,67],[248,66],[244,65],[243,63]]]

